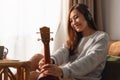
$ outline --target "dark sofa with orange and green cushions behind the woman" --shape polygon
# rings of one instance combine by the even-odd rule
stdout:
[[[109,43],[106,66],[101,80],[120,80],[120,41],[111,40]]]

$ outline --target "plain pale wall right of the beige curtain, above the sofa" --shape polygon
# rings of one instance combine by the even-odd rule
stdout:
[[[120,40],[120,0],[102,0],[103,25],[112,40]]]

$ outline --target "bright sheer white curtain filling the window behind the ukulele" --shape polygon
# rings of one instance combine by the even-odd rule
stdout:
[[[36,32],[48,26],[54,38],[60,10],[61,0],[0,0],[0,45],[9,49],[7,57],[27,60],[35,53],[43,53]]]

